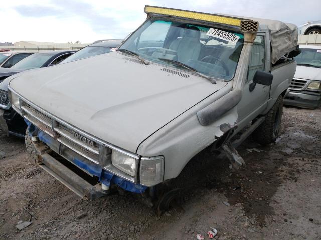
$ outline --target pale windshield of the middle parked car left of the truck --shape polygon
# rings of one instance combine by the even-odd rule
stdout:
[[[55,53],[56,54],[56,53]],[[28,56],[15,65],[11,69],[30,70],[34,68],[42,67],[53,55],[53,53],[36,53]]]

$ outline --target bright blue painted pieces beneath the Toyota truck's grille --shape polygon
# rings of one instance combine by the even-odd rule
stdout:
[[[45,132],[41,131],[37,127],[35,127],[28,120],[25,119],[25,121],[28,125],[30,135],[37,134],[39,140],[44,142],[47,145],[51,145],[53,143],[54,139],[51,136],[49,136]],[[86,170],[90,174],[99,177],[99,181],[101,183],[105,184],[106,186],[116,184],[119,187],[121,187],[122,189],[124,189],[126,191],[130,191],[130,192],[134,192],[134,193],[143,193],[147,189],[146,186],[143,186],[140,184],[135,184],[133,182],[127,181],[119,176],[114,175],[113,173],[111,173],[109,171],[102,169],[99,165],[91,164],[87,161],[83,161],[83,160],[78,159],[76,157],[74,157],[72,159],[72,161],[75,165]]]

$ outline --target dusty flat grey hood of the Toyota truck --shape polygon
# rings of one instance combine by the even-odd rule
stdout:
[[[226,84],[163,65],[143,65],[118,52],[24,72],[10,82],[45,111],[131,152]]]

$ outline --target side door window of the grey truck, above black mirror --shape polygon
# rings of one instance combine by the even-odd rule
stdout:
[[[250,55],[247,81],[252,81],[257,70],[264,71],[265,66],[265,42],[263,36],[257,36],[254,40]]]

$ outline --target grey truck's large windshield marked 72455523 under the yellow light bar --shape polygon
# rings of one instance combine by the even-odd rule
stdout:
[[[147,20],[119,49],[163,65],[231,80],[243,45],[243,35],[199,24],[163,18]],[[164,60],[167,59],[167,60]],[[176,62],[176,63],[175,63]]]

